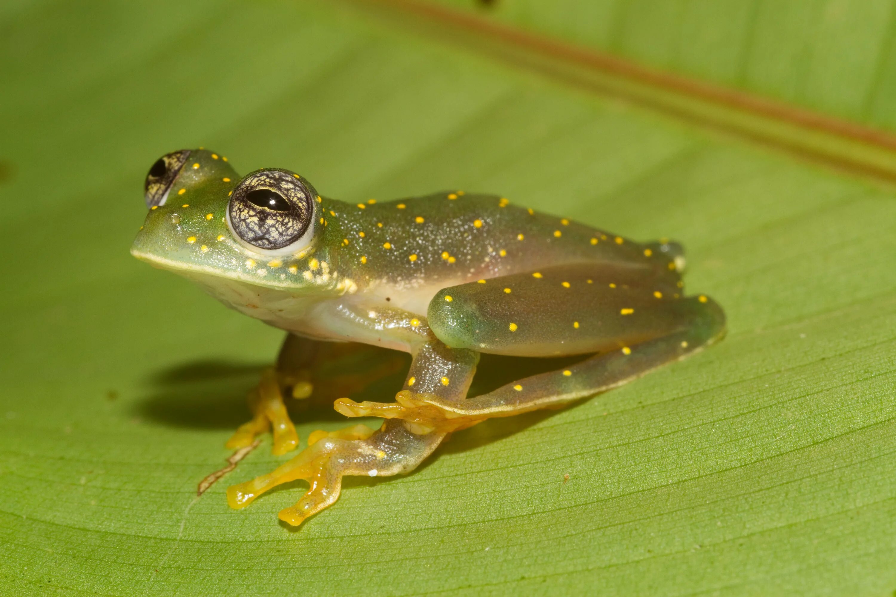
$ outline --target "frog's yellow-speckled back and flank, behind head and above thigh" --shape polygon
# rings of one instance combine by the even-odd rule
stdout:
[[[512,275],[560,263],[671,269],[672,256],[497,195],[438,192],[350,205],[327,200],[328,233],[341,236],[340,269],[353,279],[413,289]]]

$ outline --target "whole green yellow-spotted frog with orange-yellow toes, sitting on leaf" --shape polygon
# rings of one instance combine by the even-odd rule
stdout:
[[[238,175],[200,148],[156,160],[144,200],[134,257],[287,332],[228,448],[270,430],[274,454],[297,449],[287,404],[315,393],[346,417],[382,420],[378,429],[314,431],[297,456],[228,488],[228,504],[242,508],[304,480],[306,492],[280,511],[292,526],[339,499],[347,475],[410,473],[454,432],[593,397],[725,334],[719,303],[685,294],[680,243],[637,242],[503,195],[454,189],[345,202],[289,169]],[[409,354],[393,401],[338,396],[395,371],[389,359],[361,371],[325,366],[366,350]],[[575,358],[468,396],[489,354]]]

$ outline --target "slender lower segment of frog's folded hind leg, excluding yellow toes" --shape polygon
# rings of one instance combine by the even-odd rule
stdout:
[[[481,420],[561,405],[615,388],[663,363],[675,361],[711,344],[724,334],[725,315],[711,298],[700,295],[674,301],[680,325],[658,337],[623,345],[564,370],[533,375],[471,398],[461,404],[426,398],[446,416]],[[635,311],[634,316],[639,312]]]

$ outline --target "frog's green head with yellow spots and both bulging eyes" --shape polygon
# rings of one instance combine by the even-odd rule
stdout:
[[[220,154],[183,149],[159,158],[144,187],[150,211],[134,257],[211,290],[337,289],[318,226],[321,198],[301,176],[270,168],[240,177]]]

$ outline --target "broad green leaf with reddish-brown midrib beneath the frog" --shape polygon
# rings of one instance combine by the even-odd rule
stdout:
[[[2,593],[896,589],[892,151],[420,6],[0,8]],[[694,13],[690,30],[727,27],[728,9]],[[889,32],[881,21],[863,22]],[[625,22],[620,47],[640,48],[626,55],[667,55],[661,21]],[[811,20],[799,31],[823,36]],[[849,73],[856,56],[823,64]],[[732,82],[724,52],[676,60],[656,64]],[[750,64],[771,72],[773,52]],[[817,76],[788,68],[784,87]],[[883,104],[867,118],[835,109],[846,91],[818,81],[802,95],[744,87],[891,126]],[[674,237],[728,337],[562,411],[457,433],[406,477],[352,480],[297,532],[276,514],[300,483],[240,511],[224,499],[286,457],[269,439],[196,499],[281,337],[128,255],[145,171],[200,145],[345,200],[475,189]],[[344,424],[313,415],[303,439]]]

